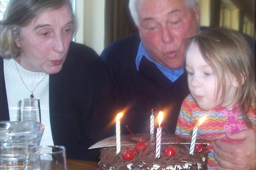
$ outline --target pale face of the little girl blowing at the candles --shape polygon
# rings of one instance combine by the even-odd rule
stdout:
[[[186,54],[186,70],[188,74],[189,91],[202,110],[211,110],[223,106],[231,110],[236,95],[236,80],[232,75],[225,75],[226,87],[224,98],[220,88],[217,94],[217,78],[209,64],[203,59],[197,43],[192,43]]]

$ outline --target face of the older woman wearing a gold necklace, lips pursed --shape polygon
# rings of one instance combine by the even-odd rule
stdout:
[[[46,11],[22,27],[17,62],[31,72],[61,70],[72,39],[72,12],[68,7]]]

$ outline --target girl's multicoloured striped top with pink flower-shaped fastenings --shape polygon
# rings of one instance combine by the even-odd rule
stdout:
[[[198,127],[198,135],[207,135],[228,141],[226,133],[238,132],[252,127],[256,129],[255,101],[246,115],[241,115],[239,109],[228,111],[222,106],[203,111],[196,104],[195,100],[189,94],[183,101],[181,111],[176,126],[176,134],[192,135],[195,124],[202,116],[207,116],[203,124]],[[236,108],[236,106],[233,106]],[[232,141],[233,142],[233,141]],[[219,166],[213,156],[211,145],[208,147],[208,170],[213,170],[214,166]]]

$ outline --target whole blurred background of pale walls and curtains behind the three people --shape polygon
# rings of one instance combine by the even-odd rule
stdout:
[[[0,0],[0,20],[9,0]],[[71,0],[78,19],[74,41],[99,55],[111,42],[137,31],[128,10],[129,0]],[[222,26],[255,40],[255,0],[197,0],[200,26]]]

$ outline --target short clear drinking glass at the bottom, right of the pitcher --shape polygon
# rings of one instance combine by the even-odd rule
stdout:
[[[34,146],[25,150],[24,170],[67,170],[64,146]]]

